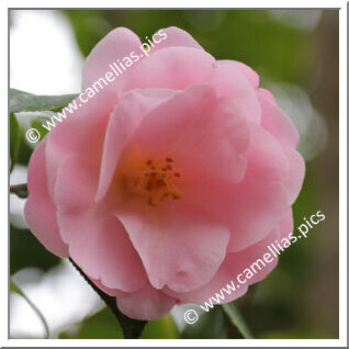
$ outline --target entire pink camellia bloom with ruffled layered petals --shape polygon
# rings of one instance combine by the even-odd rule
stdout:
[[[179,29],[164,32],[29,165],[33,234],[137,319],[207,301],[289,236],[304,178],[297,132],[258,75],[215,60]],[[140,45],[126,29],[109,33],[86,60],[83,89]]]

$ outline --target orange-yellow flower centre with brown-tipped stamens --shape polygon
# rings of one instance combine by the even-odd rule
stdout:
[[[180,199],[182,192],[173,182],[181,174],[174,170],[173,162],[170,157],[138,162],[138,166],[133,167],[127,174],[125,173],[124,188],[128,193],[146,196],[150,206],[157,206],[166,198]]]

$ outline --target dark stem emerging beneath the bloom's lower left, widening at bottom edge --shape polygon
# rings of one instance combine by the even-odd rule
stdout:
[[[133,318],[130,318],[128,316],[124,315],[120,312],[120,309],[116,306],[116,299],[114,296],[111,296],[103,292],[101,289],[99,289],[87,275],[86,273],[80,269],[79,266],[76,264],[76,262],[69,258],[69,261],[72,263],[72,266],[79,271],[81,277],[88,282],[88,284],[98,293],[98,295],[105,302],[106,306],[112,311],[114,316],[116,317],[125,339],[136,339],[139,338],[145,325],[147,322],[145,320],[136,320]]]

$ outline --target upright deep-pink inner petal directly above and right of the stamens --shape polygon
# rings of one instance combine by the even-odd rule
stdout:
[[[203,173],[238,182],[246,169],[240,153],[248,146],[249,133],[230,100],[216,100],[212,88],[194,85],[144,117],[133,142],[146,154],[173,157],[187,177]]]

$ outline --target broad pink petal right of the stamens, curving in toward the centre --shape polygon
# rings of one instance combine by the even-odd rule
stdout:
[[[183,200],[204,209],[230,229],[227,251],[244,250],[271,232],[290,206],[289,164],[278,142],[251,124],[247,169],[238,183],[198,178],[185,185]],[[189,202],[188,202],[189,204]]]

